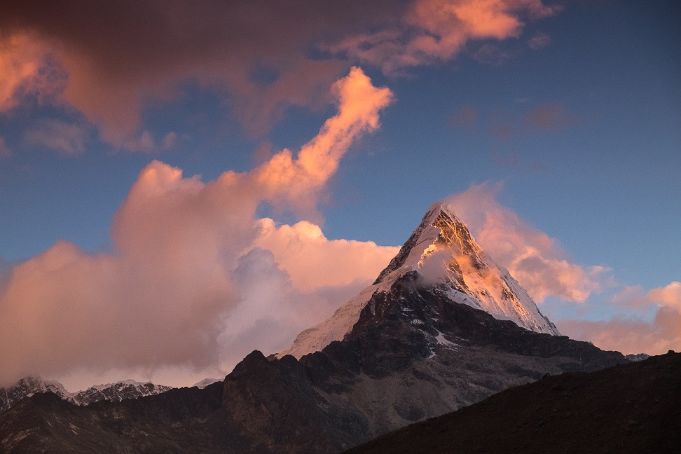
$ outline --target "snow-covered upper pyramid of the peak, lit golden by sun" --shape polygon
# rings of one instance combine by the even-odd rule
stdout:
[[[442,202],[436,202],[376,282],[325,322],[298,334],[291,348],[277,357],[301,358],[341,341],[374,294],[389,292],[399,277],[411,272],[417,273],[424,287],[442,291],[454,303],[484,310],[497,319],[512,320],[525,329],[560,336],[508,270],[490,260],[465,224]]]

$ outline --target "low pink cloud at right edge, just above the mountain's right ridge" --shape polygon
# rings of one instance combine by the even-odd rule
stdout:
[[[598,322],[565,319],[558,322],[560,331],[575,339],[592,341],[605,350],[623,353],[661,355],[667,350],[681,350],[681,282],[652,289],[645,296],[639,296],[638,291],[632,292],[632,289],[626,291],[631,298],[623,298],[626,295],[619,294],[613,303],[654,305],[653,319],[616,317]]]

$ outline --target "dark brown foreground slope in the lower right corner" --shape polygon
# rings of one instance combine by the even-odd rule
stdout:
[[[566,373],[380,436],[346,454],[678,453],[681,353]]]

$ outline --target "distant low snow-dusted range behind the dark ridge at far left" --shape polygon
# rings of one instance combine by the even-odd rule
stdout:
[[[172,387],[155,385],[151,382],[138,383],[135,380],[124,380],[106,385],[95,385],[83,391],[68,392],[57,381],[29,376],[18,380],[11,386],[0,388],[0,414],[8,411],[21,399],[41,392],[53,392],[60,399],[76,405],[89,405],[102,400],[119,402],[124,399],[153,396],[168,390],[172,390]]]

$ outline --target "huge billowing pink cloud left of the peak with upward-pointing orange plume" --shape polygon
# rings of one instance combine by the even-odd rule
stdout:
[[[255,216],[263,201],[314,209],[339,160],[378,128],[391,99],[359,69],[334,90],[338,114],[296,156],[280,151],[250,172],[208,182],[155,160],[114,215],[110,253],[58,241],[13,266],[0,289],[0,382],[76,369],[224,371],[248,349],[287,347],[375,279],[394,248],[327,240],[312,223],[275,228]],[[331,253],[347,266],[333,278],[323,273]],[[305,255],[319,282],[301,277],[309,265],[297,259]]]

